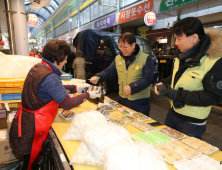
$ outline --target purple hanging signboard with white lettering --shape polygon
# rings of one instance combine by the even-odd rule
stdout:
[[[115,25],[115,14],[94,22],[94,29],[102,29]]]

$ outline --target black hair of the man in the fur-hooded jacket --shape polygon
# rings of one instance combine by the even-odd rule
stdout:
[[[203,25],[196,17],[187,17],[180,20],[173,26],[172,33],[179,37],[182,36],[183,33],[187,37],[193,34],[197,34],[199,39],[205,35]]]

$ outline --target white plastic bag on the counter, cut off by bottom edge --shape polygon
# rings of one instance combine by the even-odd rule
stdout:
[[[118,143],[107,149],[104,170],[168,170],[162,155],[150,144],[140,141],[134,145]]]

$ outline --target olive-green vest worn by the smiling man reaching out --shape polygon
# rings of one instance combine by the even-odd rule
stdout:
[[[146,53],[139,52],[136,55],[134,62],[131,63],[128,67],[128,70],[126,70],[124,58],[120,55],[116,56],[115,63],[118,74],[119,95],[122,98],[137,100],[150,97],[150,86],[133,95],[126,95],[124,93],[124,87],[142,78],[143,67],[146,64],[147,57],[148,55]]]

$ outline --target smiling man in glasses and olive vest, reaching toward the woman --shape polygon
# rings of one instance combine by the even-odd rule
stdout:
[[[132,33],[120,35],[118,42],[120,55],[116,56],[107,69],[96,74],[90,81],[97,84],[118,76],[117,101],[149,116],[150,84],[154,75],[152,57],[140,51]]]

